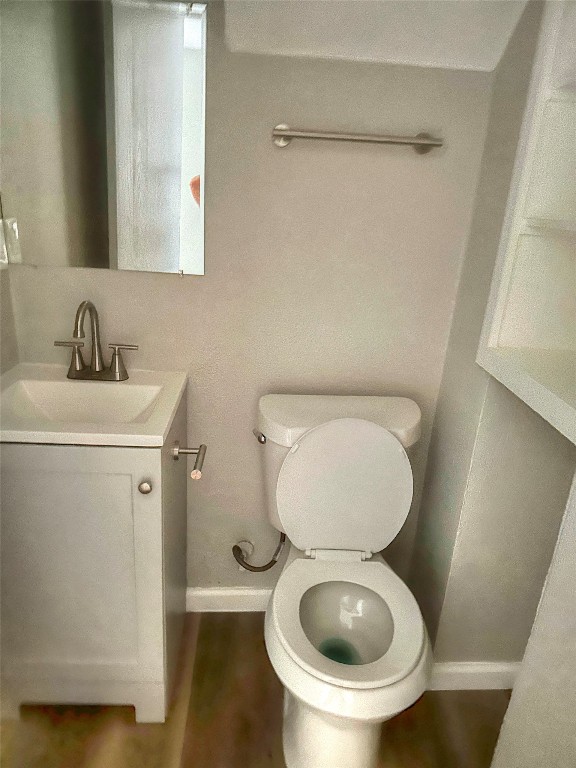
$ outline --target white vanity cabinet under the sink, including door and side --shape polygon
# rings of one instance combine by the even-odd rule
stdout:
[[[185,438],[182,399],[161,447],[1,446],[4,704],[165,719],[186,609]]]

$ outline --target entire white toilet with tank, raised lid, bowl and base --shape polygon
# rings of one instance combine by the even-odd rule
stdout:
[[[265,615],[287,768],[372,768],[381,724],[426,690],[420,609],[380,551],[402,528],[420,409],[400,397],[265,395],[272,525],[291,547]]]

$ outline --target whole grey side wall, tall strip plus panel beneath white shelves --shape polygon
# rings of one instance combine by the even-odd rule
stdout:
[[[416,537],[411,584],[441,661],[522,657],[576,463],[475,363],[538,17],[530,6],[494,84]]]

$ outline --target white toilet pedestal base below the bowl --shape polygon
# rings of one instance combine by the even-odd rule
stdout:
[[[286,768],[375,768],[381,728],[321,712],[284,689]]]

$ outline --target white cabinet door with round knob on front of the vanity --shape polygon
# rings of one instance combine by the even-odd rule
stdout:
[[[160,481],[159,449],[2,446],[5,674],[163,679]]]

